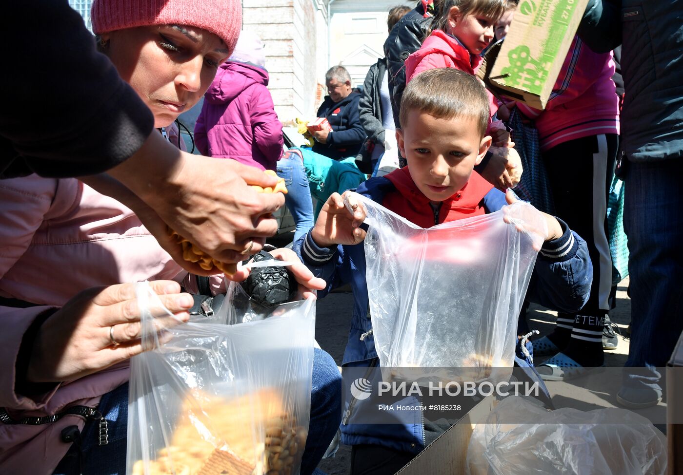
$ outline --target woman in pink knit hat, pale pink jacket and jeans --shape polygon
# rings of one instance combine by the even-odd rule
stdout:
[[[176,143],[171,125],[232,52],[241,7],[238,0],[95,0],[92,25],[100,51]],[[0,473],[124,474],[128,358],[142,349],[133,286],[122,283],[156,280],[165,305],[186,320],[191,302],[178,282],[188,290],[196,282],[133,212],[149,210],[130,210],[76,179],[3,180],[0,206],[3,216],[20,216],[0,227],[0,321],[12,336],[0,356],[14,370],[0,377]],[[322,288],[303,265],[295,268],[303,287]],[[314,470],[341,418],[333,360],[316,350],[313,364],[314,386],[327,389],[311,395],[303,474]],[[339,391],[329,390],[335,385]]]

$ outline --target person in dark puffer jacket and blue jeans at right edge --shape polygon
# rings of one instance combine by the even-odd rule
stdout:
[[[660,374],[683,330],[683,0],[590,0],[579,36],[594,51],[622,44],[624,229],[631,341],[617,401],[661,400]]]

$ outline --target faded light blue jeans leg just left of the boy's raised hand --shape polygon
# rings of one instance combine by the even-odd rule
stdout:
[[[293,152],[285,152],[277,162],[277,176],[283,178],[287,186],[285,205],[294,217],[296,242],[313,227],[313,199],[301,157]]]

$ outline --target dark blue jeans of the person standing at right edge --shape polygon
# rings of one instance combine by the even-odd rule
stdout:
[[[624,384],[657,385],[683,331],[683,160],[629,162],[624,180],[631,340]]]

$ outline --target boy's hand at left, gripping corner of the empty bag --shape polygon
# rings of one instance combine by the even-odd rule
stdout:
[[[353,214],[346,209],[344,199],[348,199]],[[365,215],[365,207],[358,203],[353,192],[333,193],[322,206],[316,225],[311,229],[311,237],[320,247],[358,244],[365,239],[365,231],[359,228]]]

